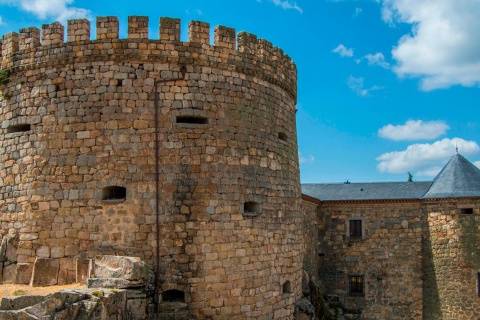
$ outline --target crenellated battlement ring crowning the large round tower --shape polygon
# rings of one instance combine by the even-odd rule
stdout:
[[[264,78],[296,96],[295,64],[283,50],[267,40],[246,32],[236,34],[233,28],[216,26],[212,45],[210,24],[190,21],[189,40],[181,42],[180,19],[169,17],[159,20],[159,39],[150,39],[148,26],[148,17],[129,16],[127,38],[120,39],[117,17],[97,17],[96,39],[91,40],[90,21],[69,20],[66,42],[64,26],[59,22],[44,24],[41,30],[36,27],[24,28],[20,33],[11,32],[2,37],[1,68],[28,69],[31,65],[54,65],[71,60],[83,62],[135,57],[152,62],[177,60],[178,63],[194,65],[205,65],[202,61],[207,60],[208,64],[217,62],[234,67],[239,72]],[[182,57],[179,52],[188,54]]]

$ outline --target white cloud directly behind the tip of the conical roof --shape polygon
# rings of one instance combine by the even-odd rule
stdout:
[[[455,153],[456,148],[463,155],[472,155],[480,151],[475,141],[460,138],[443,139],[432,144],[412,144],[404,151],[393,151],[377,157],[377,169],[388,173],[406,173],[416,171],[414,175],[435,176]]]

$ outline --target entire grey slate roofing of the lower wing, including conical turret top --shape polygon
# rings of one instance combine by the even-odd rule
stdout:
[[[302,194],[321,201],[480,197],[480,169],[455,154],[434,181],[306,183]]]

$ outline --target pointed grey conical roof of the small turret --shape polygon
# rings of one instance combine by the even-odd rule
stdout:
[[[423,198],[480,197],[480,169],[455,154],[435,177]]]

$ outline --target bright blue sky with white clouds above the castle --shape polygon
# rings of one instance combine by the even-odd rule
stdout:
[[[456,152],[480,166],[477,0],[0,0],[0,34],[118,16],[180,18],[271,41],[297,64],[301,180],[431,180]],[[213,40],[212,40],[213,41]]]

